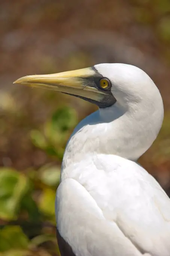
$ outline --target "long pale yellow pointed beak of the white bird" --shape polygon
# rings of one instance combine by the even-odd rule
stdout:
[[[100,107],[104,98],[108,96],[107,91],[99,90],[96,85],[101,78],[93,67],[89,67],[50,75],[24,76],[14,83],[71,94],[96,103]]]

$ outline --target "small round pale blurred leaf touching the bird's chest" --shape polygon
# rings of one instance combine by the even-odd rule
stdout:
[[[45,165],[39,170],[39,179],[48,186],[57,186],[60,182],[60,168]]]

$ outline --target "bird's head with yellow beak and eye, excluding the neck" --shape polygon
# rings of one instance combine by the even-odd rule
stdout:
[[[110,107],[116,102],[122,107],[140,101],[162,104],[160,93],[149,76],[128,64],[97,64],[50,75],[24,76],[14,83],[70,94],[92,102],[99,108]]]

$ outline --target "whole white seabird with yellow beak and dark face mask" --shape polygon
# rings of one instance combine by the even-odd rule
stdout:
[[[97,64],[15,83],[45,87],[98,105],[75,128],[56,194],[62,256],[170,256],[170,199],[138,158],[152,145],[164,109],[141,69]]]

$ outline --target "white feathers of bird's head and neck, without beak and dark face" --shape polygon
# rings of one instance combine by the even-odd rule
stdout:
[[[116,103],[78,124],[66,147],[63,167],[86,154],[113,154],[135,161],[152,145],[162,125],[161,95],[143,70],[117,63],[94,67],[111,81]]]

